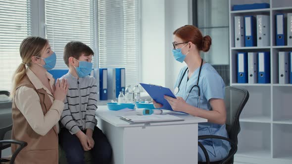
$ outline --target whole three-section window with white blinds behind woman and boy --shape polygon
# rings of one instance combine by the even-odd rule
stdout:
[[[63,49],[82,41],[95,52],[94,67],[126,69],[126,83],[139,81],[140,0],[0,0],[0,89],[10,90],[28,36],[49,40],[55,69],[68,69]],[[44,26],[45,25],[45,26]]]

